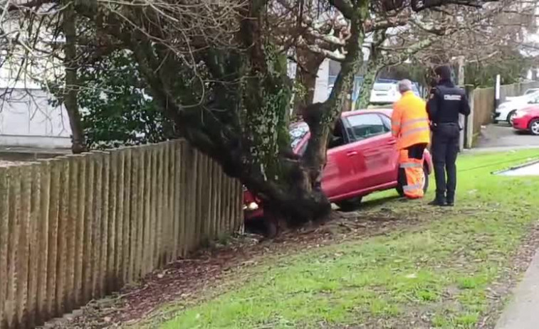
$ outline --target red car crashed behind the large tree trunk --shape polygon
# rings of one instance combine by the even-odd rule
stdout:
[[[391,134],[391,109],[369,109],[345,112],[335,125],[328,147],[328,161],[323,171],[322,189],[332,203],[342,210],[357,207],[361,198],[372,192],[396,188],[398,183],[399,152],[397,140]],[[292,148],[303,154],[309,140],[305,122],[290,129]],[[424,154],[424,190],[429,186],[432,160]],[[247,220],[263,217],[263,209],[248,190],[244,193],[244,213]]]

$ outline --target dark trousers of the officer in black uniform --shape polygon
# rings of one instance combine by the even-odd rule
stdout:
[[[432,159],[436,198],[453,202],[456,190],[456,155],[459,153],[459,124],[439,124],[432,134]],[[447,180],[446,180],[447,175]]]

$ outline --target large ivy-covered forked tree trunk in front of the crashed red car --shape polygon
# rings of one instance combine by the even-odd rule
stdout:
[[[320,180],[328,138],[362,64],[362,22],[368,15],[369,1],[358,2],[360,5],[352,9],[352,36],[347,41],[346,59],[330,97],[323,103],[311,104],[303,113],[310,127],[303,158],[295,155],[290,145],[288,109],[292,87],[286,74],[286,58],[262,33],[264,0],[246,1],[240,13],[237,39],[243,49],[206,47],[194,53],[196,63],[204,63],[211,85],[198,76],[189,79],[185,71],[191,68],[184,65],[184,58],[147,36],[162,33],[153,31],[159,26],[147,23],[149,17],[154,19],[149,9],[133,6],[130,12],[123,13],[137,26],[145,26],[144,32],[118,23],[125,18],[115,15],[103,17],[103,28],[133,51],[152,96],[177,124],[181,136],[218,161],[229,176],[239,178],[263,201],[266,214],[286,220],[289,225],[301,225],[324,219],[331,210]],[[97,11],[90,13],[93,9],[88,6],[80,10],[87,16],[98,15]],[[199,90],[211,92],[210,96],[204,94],[204,103],[196,94]]]

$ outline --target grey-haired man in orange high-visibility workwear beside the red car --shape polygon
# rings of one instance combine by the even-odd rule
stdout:
[[[392,134],[399,150],[399,185],[407,198],[424,196],[423,153],[430,143],[427,104],[412,92],[412,82],[399,82],[402,97],[393,104]]]

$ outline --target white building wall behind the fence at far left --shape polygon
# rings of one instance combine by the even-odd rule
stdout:
[[[0,146],[68,148],[70,134],[66,109],[49,105],[43,90],[14,90],[0,99]]]

